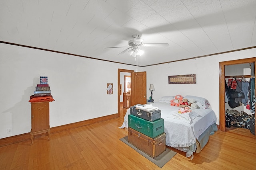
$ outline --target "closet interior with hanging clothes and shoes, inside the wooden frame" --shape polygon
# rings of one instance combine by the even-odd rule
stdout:
[[[226,131],[243,128],[255,135],[254,63],[225,66]]]

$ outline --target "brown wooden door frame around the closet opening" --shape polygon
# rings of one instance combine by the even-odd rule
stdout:
[[[244,63],[254,63],[254,72],[256,73],[256,57],[248,59],[238,59],[232,61],[223,61],[219,62],[219,98],[220,98],[220,131],[226,131],[225,126],[225,66],[226,65],[235,65],[235,64],[244,64]]]

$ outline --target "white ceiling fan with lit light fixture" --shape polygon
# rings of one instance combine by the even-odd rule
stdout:
[[[132,40],[128,41],[129,47],[126,47],[124,51],[122,51],[120,54],[128,53],[129,55],[136,57],[137,55],[142,55],[144,51],[139,49],[138,47],[166,47],[169,44],[168,43],[150,43],[150,44],[144,44],[142,43],[143,39],[138,38],[139,35],[132,35]],[[110,49],[110,48],[124,48],[124,47],[105,47],[104,49]]]

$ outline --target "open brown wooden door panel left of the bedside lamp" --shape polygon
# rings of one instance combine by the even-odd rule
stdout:
[[[131,73],[131,106],[146,104],[146,72]]]

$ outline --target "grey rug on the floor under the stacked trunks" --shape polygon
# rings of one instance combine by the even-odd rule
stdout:
[[[126,145],[130,146],[132,149],[136,150],[138,153],[140,153],[142,156],[144,156],[145,158],[147,158],[148,160],[150,160],[160,168],[162,168],[176,154],[176,152],[166,148],[166,150],[162,154],[160,154],[155,159],[153,159],[152,157],[148,156],[148,154],[134,147],[134,145],[128,143],[128,136],[123,137],[120,140],[124,142]]]

